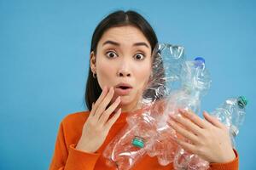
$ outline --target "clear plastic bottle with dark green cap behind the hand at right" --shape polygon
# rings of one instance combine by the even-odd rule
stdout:
[[[246,105],[247,99],[240,96],[238,98],[225,100],[222,105],[210,113],[210,115],[215,116],[218,121],[224,123],[224,125],[229,128],[233,147],[235,147],[235,137],[239,133],[239,127],[244,121]],[[174,161],[174,167],[177,170],[207,170],[209,167],[208,165],[209,162],[204,161],[199,156],[190,154],[188,151],[183,149],[177,152]]]

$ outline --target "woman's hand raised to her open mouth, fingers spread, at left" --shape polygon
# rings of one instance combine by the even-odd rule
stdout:
[[[110,88],[108,91],[108,88],[104,87],[102,94],[96,100],[95,105],[92,105],[90,115],[84,123],[81,138],[76,146],[77,150],[94,153],[102,146],[110,128],[121,114],[121,108],[119,108],[119,110],[108,120],[108,117],[116,110],[120,103],[120,97],[118,97],[106,110],[106,107],[113,98],[113,94],[113,88]]]

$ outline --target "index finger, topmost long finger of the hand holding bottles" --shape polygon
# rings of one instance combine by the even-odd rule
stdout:
[[[193,111],[186,111],[179,109],[178,110],[183,116],[186,116],[191,122],[195,122],[196,125],[198,125],[201,128],[206,128],[208,127],[208,122],[204,121],[201,119],[200,116],[197,116]]]

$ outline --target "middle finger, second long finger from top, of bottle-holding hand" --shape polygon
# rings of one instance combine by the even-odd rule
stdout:
[[[170,116],[171,119],[183,125],[183,127],[187,127],[189,131],[195,133],[195,135],[201,134],[201,127],[195,124],[195,122],[191,122],[188,118],[179,116]]]

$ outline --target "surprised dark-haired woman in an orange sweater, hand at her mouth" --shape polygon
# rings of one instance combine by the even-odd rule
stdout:
[[[85,93],[89,111],[63,119],[49,169],[113,169],[105,165],[102,150],[125,126],[127,112],[139,109],[137,101],[150,77],[156,43],[152,27],[134,11],[116,11],[99,23],[90,48]],[[192,144],[181,139],[177,144],[211,162],[212,169],[238,169],[226,127],[207,112],[205,119],[181,112],[184,116],[173,117],[170,124]],[[155,157],[145,156],[133,169],[173,167],[162,167]]]

